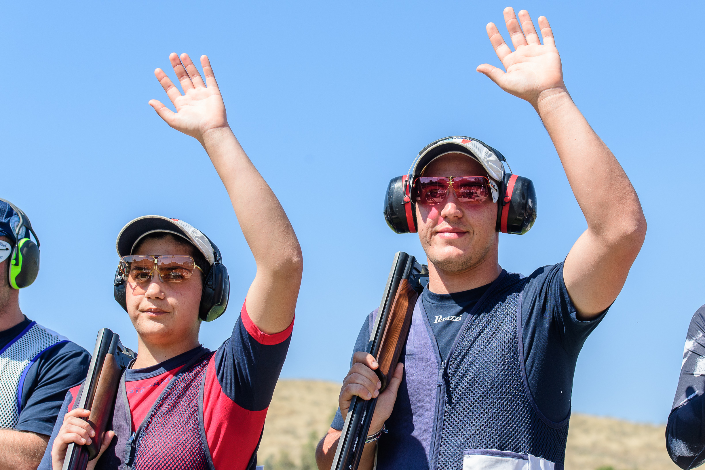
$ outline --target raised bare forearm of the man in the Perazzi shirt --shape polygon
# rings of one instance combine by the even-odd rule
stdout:
[[[642,231],[644,214],[632,183],[570,94],[565,89],[547,90],[534,108],[558,151],[589,233],[616,241]]]

